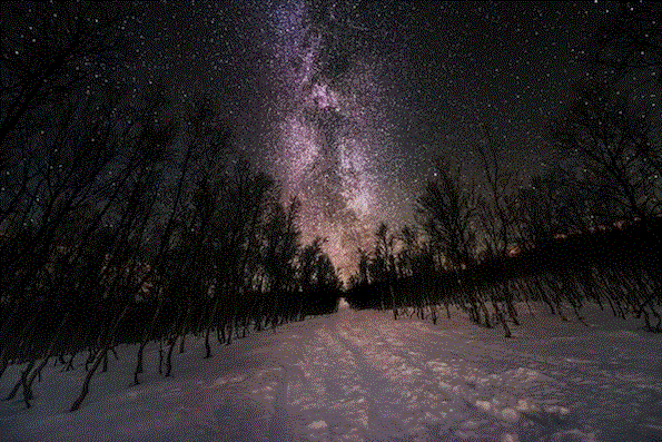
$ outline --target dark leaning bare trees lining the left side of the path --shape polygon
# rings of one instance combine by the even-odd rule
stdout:
[[[115,347],[160,343],[169,376],[191,333],[230,344],[336,310],[323,240],[296,199],[253,170],[211,97],[122,81],[130,3],[13,3],[2,22],[0,376],[31,386],[49,360],[92,376]],[[17,21],[16,17],[26,16]],[[125,72],[126,73],[126,72]],[[76,366],[81,352],[86,362]]]

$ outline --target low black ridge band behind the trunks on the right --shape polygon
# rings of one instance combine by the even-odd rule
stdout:
[[[436,323],[456,306],[477,324],[502,325],[512,336],[518,325],[517,303],[544,303],[562,321],[582,321],[581,308],[595,303],[614,316],[643,317],[646,328],[662,332],[662,219],[541,240],[510,256],[491,257],[466,268],[435,268],[432,254],[422,272],[402,273],[373,283],[355,279],[345,294],[354,308],[388,308]],[[395,262],[402,262],[396,258]],[[374,262],[373,262],[374,264]],[[396,267],[397,268],[397,267]],[[368,273],[369,274],[369,273]]]

